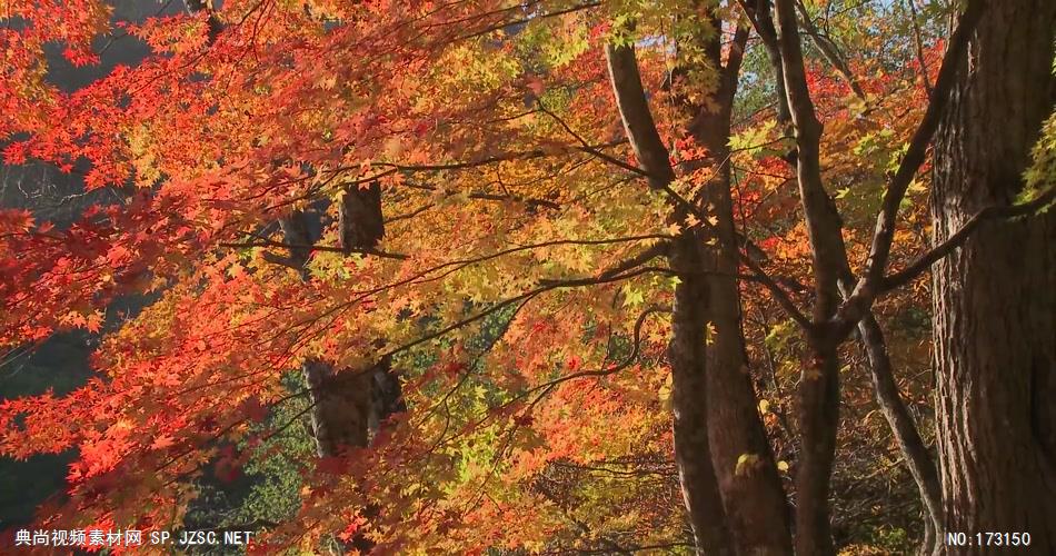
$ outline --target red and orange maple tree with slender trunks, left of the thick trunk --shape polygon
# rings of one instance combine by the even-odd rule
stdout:
[[[6,162],[119,199],[0,211],[0,344],[101,335],[86,385],[3,401],[0,449],[78,450],[57,528],[178,529],[247,470],[297,498],[266,552],[814,555],[855,537],[837,456],[893,448],[930,550],[986,523],[896,379],[927,332],[883,327],[1056,175],[1049,122],[1027,193],[924,236],[992,3],[0,3]],[[150,54],[48,81],[49,44],[117,32]]]

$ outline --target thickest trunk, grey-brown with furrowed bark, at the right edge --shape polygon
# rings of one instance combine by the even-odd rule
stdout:
[[[1022,190],[1056,93],[1054,29],[1050,0],[988,3],[936,139],[936,244]],[[1024,532],[1030,554],[1056,554],[1054,246],[1050,210],[985,222],[934,267],[940,537]]]

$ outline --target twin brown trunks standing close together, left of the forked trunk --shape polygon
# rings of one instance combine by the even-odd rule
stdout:
[[[766,431],[756,409],[740,334],[738,242],[726,163],[730,107],[747,31],[738,31],[724,79],[716,91],[718,111],[693,107],[688,131],[711,152],[717,171],[706,195],[690,201],[708,206],[720,220],[708,235],[686,230],[671,249],[676,288],[669,360],[674,378],[676,461],[698,552],[707,554],[789,554],[787,500],[774,465]],[[719,66],[719,44],[711,47]],[[668,189],[675,177],[645,100],[634,51],[609,47],[610,78],[625,129],[650,187]],[[674,203],[673,221],[690,207]],[[710,347],[704,335],[715,329]],[[755,463],[741,465],[741,456]],[[731,538],[730,538],[731,537]]]

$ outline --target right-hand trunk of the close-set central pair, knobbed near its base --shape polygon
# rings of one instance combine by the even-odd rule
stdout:
[[[717,49],[716,49],[717,51]],[[695,135],[708,149],[715,169],[704,202],[717,218],[715,247],[700,269],[709,296],[705,318],[714,331],[707,346],[708,434],[730,532],[741,554],[791,554],[789,506],[759,418],[758,398],[748,375],[741,334],[739,247],[734,226],[729,155],[733,95],[715,113],[697,119]],[[724,100],[725,100],[724,99]],[[744,458],[744,459],[743,459]],[[738,461],[740,465],[738,466]]]

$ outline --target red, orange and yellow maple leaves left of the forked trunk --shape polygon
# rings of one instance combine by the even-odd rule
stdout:
[[[600,47],[636,46],[680,172],[671,190],[700,198],[729,163],[737,227],[758,250],[748,252],[803,298],[809,241],[783,160],[794,140],[774,122],[767,78],[757,72],[741,92],[767,100],[737,115],[728,160],[683,137],[673,101],[710,102],[717,72],[700,44],[744,24],[733,3],[713,19],[719,2],[232,0],[213,41],[203,14],[123,26],[152,56],[61,93],[42,79],[42,43],[66,41],[89,61],[84,44],[107,13],[68,4],[23,8],[19,17],[62,24],[6,30],[0,43],[0,137],[17,139],[6,160],[79,161],[87,186],[116,199],[62,230],[0,212],[0,344],[106,332],[93,356],[100,378],[0,410],[6,454],[80,448],[70,506],[51,513],[177,526],[200,478],[267,469],[292,500],[269,514],[281,523],[259,540],[275,549],[357,534],[404,553],[681,538],[669,318],[654,314],[635,332],[644,311],[670,306],[677,279],[663,258],[606,272],[719,220],[714,206],[674,218],[668,195],[627,171],[635,161]],[[881,50],[878,12],[849,12],[865,18],[861,30],[850,16],[829,19],[830,4],[809,8],[849,51]],[[898,52],[855,57],[865,99],[811,60],[826,178],[853,258],[920,109],[914,70],[924,68],[893,67]],[[1038,168],[1032,183],[1049,173]],[[376,180],[385,237],[378,252],[346,254],[341,196]],[[310,222],[311,245],[287,245],[277,222],[295,215]],[[896,257],[919,242],[899,234]],[[768,369],[774,391],[759,411],[783,438],[783,393],[804,346],[749,281],[745,334],[757,341],[746,373]],[[141,312],[109,312],[119,296],[143,292],[155,297]],[[723,331],[709,327],[709,339]],[[355,371],[382,355],[408,409],[373,445],[315,458],[309,443],[275,437],[300,426],[305,440],[308,393],[291,380],[303,361]],[[746,454],[735,473],[760,461]]]

